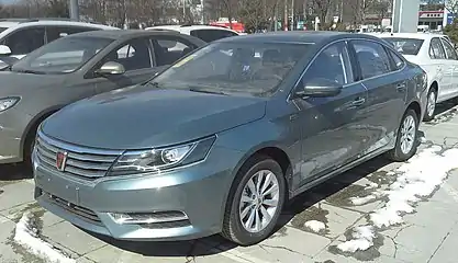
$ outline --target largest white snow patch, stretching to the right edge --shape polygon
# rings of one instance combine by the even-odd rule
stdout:
[[[458,149],[440,155],[442,150],[439,146],[429,147],[395,170],[399,176],[384,192],[388,203],[370,215],[376,227],[401,224],[402,214],[413,213],[420,197],[431,195],[448,172],[458,168]]]

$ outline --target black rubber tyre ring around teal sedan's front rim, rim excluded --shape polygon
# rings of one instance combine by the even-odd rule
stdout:
[[[245,184],[256,172],[260,170],[270,170],[275,174],[278,181],[280,195],[279,195],[277,211],[273,215],[270,224],[260,232],[252,233],[245,230],[244,226],[242,226],[238,209],[239,209],[239,202],[242,198],[242,192],[245,187]],[[230,196],[230,198],[233,201],[231,215],[230,215],[230,224],[231,224],[232,233],[235,236],[236,241],[242,245],[249,245],[249,244],[254,244],[259,241],[262,241],[273,231],[273,228],[277,225],[278,218],[280,217],[281,209],[284,204],[286,182],[284,182],[284,176],[283,176],[281,167],[272,159],[264,159],[264,160],[261,159],[259,162],[255,163],[254,165],[252,165],[245,172],[242,172],[242,173],[243,174],[239,174],[241,181],[237,184],[237,188],[235,190],[234,194]]]

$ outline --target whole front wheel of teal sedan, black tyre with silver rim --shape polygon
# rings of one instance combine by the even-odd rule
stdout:
[[[267,175],[268,172],[270,172],[269,175]],[[271,180],[264,188],[264,183],[268,176]],[[252,186],[256,188],[257,179],[259,178],[262,178],[260,188],[264,188],[264,192],[269,192],[268,190],[271,187],[275,188],[273,185],[278,186],[278,192],[272,191],[275,195],[268,194],[265,196],[266,199],[260,195],[259,198],[256,197],[256,194],[252,193],[248,182],[253,182]],[[281,214],[286,198],[286,188],[284,175],[278,162],[266,156],[250,158],[238,171],[231,187],[224,213],[222,236],[241,245],[255,244],[268,238]],[[241,202],[243,195],[245,202]],[[266,201],[270,203],[270,206],[265,205]],[[271,203],[276,203],[277,207],[273,208]],[[257,218],[259,219],[258,222],[260,222],[258,228],[256,228],[256,213],[258,213]],[[269,216],[264,216],[266,213]],[[249,224],[252,215],[254,219]],[[271,218],[270,221],[267,220],[262,224],[264,219],[269,217]],[[245,224],[243,224],[243,220]]]

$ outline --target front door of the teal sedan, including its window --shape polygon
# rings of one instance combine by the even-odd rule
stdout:
[[[305,87],[324,79],[343,87],[335,96],[294,100],[302,127],[301,184],[355,160],[364,148],[367,90],[353,71],[347,44],[338,42],[319,54],[299,82]]]

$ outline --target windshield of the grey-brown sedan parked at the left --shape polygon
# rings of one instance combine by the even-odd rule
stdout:
[[[113,39],[103,37],[62,37],[18,61],[12,70],[30,73],[68,73],[89,61]]]

